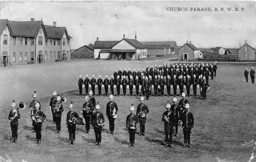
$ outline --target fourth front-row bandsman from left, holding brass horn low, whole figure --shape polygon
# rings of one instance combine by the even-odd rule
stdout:
[[[105,124],[105,119],[102,113],[100,113],[100,105],[96,105],[96,112],[92,115],[92,126],[95,132],[96,145],[101,145],[101,132],[102,127]]]

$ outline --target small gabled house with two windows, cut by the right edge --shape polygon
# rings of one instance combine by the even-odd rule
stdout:
[[[254,60],[255,50],[247,43],[245,43],[244,46],[238,49],[238,58],[239,57],[240,60]]]

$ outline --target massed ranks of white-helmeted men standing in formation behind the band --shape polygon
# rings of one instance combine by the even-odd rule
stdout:
[[[136,96],[139,96],[139,91],[141,96],[145,96],[148,100],[152,95],[152,90],[154,90],[153,96],[164,96],[164,89],[167,90],[167,97],[171,96],[171,89],[173,89],[173,96],[177,95],[177,89],[180,90],[180,96],[184,89],[187,90],[187,96],[190,97],[190,89],[193,89],[193,96],[197,96],[197,88],[200,91],[200,97],[207,99],[207,90],[209,89],[209,77],[213,80],[213,77],[216,77],[216,72],[218,71],[216,63],[208,66],[202,64],[193,64],[190,65],[166,65],[164,67],[161,65],[157,68],[151,65],[151,68],[147,66],[146,70],[143,69],[140,72],[140,69],[133,69],[133,72],[129,68],[128,71],[124,68],[124,71],[117,72],[115,70],[114,74],[111,76],[111,79],[108,79],[108,76],[105,76],[105,79],[102,80],[99,75],[98,80],[96,80],[94,75],[92,79],[89,79],[88,75],[83,80],[82,76],[79,76],[78,87],[79,95],[82,95],[83,87],[85,88],[85,94],[88,94],[89,88],[91,88],[93,95],[95,95],[95,88],[98,88],[98,95],[101,96],[101,89],[104,87],[105,96],[108,96],[108,89],[111,90],[111,94],[114,95],[114,89],[116,89],[116,95],[120,95],[120,90],[123,89],[123,96],[126,95],[126,90],[129,89],[130,96],[133,95],[133,89],[136,90]],[[128,78],[128,80],[127,80]]]

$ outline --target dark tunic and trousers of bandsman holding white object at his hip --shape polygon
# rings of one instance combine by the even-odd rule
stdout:
[[[116,118],[113,118],[114,109],[116,109],[116,114],[117,114],[118,107],[116,105],[116,102],[109,101],[107,103],[107,107],[106,107],[106,115],[107,115],[108,121],[109,121],[109,132],[114,132],[114,130],[115,130],[115,119]]]

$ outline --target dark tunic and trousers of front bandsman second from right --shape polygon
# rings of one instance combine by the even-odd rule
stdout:
[[[169,120],[168,122],[164,119],[164,116]],[[172,111],[165,111],[162,117],[162,122],[164,122],[164,134],[166,144],[172,143],[172,131],[175,124],[174,113]]]

